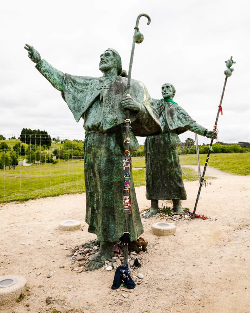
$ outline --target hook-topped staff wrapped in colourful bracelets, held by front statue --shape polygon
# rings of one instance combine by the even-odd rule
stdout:
[[[131,72],[132,72],[132,65],[133,65],[133,58],[134,58],[134,50],[135,50],[135,44],[140,44],[143,42],[144,36],[142,33],[139,32],[139,20],[142,16],[145,16],[148,18],[148,25],[151,22],[150,17],[147,14],[139,14],[136,20],[135,25],[135,32],[133,36],[133,44],[132,44],[132,50],[130,55],[130,62],[129,62],[129,69],[128,69],[128,85],[127,85],[127,95],[126,97],[130,98],[130,84],[131,84]],[[130,198],[130,171],[131,171],[131,155],[129,151],[130,146],[130,110],[126,110],[126,139],[125,139],[125,158],[123,160],[123,168],[124,168],[124,194],[123,194],[123,207],[125,211],[125,219],[124,219],[124,233],[120,240],[122,241],[124,245],[124,259],[123,264],[128,264],[128,244],[130,243],[130,234],[129,234],[129,214],[131,213],[132,204],[131,204],[131,198]]]

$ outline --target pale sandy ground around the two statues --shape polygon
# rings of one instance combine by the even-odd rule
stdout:
[[[143,283],[128,299],[111,290],[114,272],[70,270],[65,247],[95,239],[84,222],[85,194],[0,205],[0,276],[25,276],[30,288],[25,299],[0,307],[0,312],[53,312],[57,304],[46,305],[48,296],[66,302],[70,312],[250,312],[250,176],[211,167],[207,175],[217,178],[202,188],[197,213],[210,219],[176,221],[175,236],[167,237],[151,234],[151,224],[162,220],[143,219],[150,254],[143,256],[137,271],[144,274]],[[198,182],[186,182],[185,187],[183,206],[192,210]],[[150,205],[145,187],[136,192],[143,210]],[[82,230],[58,231],[63,219],[82,221]],[[71,291],[68,285],[73,285]]]

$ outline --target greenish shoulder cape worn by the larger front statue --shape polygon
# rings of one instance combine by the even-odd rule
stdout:
[[[101,78],[66,74],[66,85],[62,96],[77,122],[94,101],[100,100],[101,84]],[[124,123],[126,112],[121,106],[121,100],[126,95],[126,89],[127,78],[118,77],[117,80],[110,83],[107,92],[104,93],[102,99],[104,130]],[[145,85],[138,80],[131,80],[131,96],[145,106],[151,117],[148,121],[142,123],[139,118],[140,114],[131,111],[130,120],[135,136],[160,134],[162,128],[159,116]]]

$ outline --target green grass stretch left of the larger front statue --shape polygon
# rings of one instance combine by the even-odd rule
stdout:
[[[0,171],[0,202],[85,192],[84,161],[59,161]]]

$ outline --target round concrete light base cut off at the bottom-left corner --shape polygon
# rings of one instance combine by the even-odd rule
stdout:
[[[20,275],[0,276],[0,305],[16,302],[27,288],[26,278]]]

